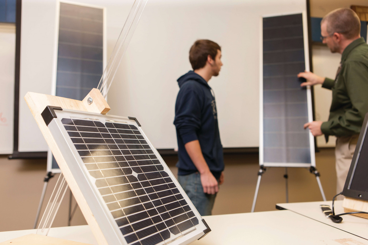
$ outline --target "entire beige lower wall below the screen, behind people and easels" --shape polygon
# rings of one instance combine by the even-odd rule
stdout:
[[[164,156],[171,171],[177,174],[174,166],[176,156]],[[225,155],[225,182],[217,195],[213,214],[250,212],[258,173],[257,154]],[[321,173],[321,182],[326,198],[335,194],[336,177],[333,149],[323,149],[316,154],[316,164]],[[288,168],[289,201],[308,202],[322,200],[314,175],[305,168]],[[262,177],[258,202],[255,211],[275,210],[276,203],[286,202],[285,168],[268,168]],[[40,200],[43,178],[46,174],[46,160],[8,160],[0,155],[0,231],[31,229]],[[57,177],[50,180],[41,216]],[[73,201],[74,207],[75,201]],[[69,191],[56,216],[53,227],[68,224]],[[71,225],[86,224],[79,208]]]

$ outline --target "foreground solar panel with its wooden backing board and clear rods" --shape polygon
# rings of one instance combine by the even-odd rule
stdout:
[[[82,101],[25,96],[62,173],[39,225],[46,235],[67,186],[100,245],[188,244],[210,231],[138,121],[105,115],[104,97],[146,2],[134,1],[98,89]]]

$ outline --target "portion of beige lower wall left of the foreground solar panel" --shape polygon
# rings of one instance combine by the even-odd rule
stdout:
[[[45,174],[46,159],[8,160],[7,156],[0,155],[0,231],[33,228]],[[57,177],[49,182],[43,210]],[[60,207],[54,226],[67,226],[68,200],[69,192]],[[79,209],[75,215],[73,225],[86,224]]]

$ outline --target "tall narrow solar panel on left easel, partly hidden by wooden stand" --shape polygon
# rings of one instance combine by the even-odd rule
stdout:
[[[97,85],[104,67],[103,8],[60,3],[55,95],[83,100]],[[60,173],[48,154],[48,170]]]

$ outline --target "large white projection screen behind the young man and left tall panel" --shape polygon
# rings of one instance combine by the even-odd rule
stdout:
[[[107,57],[133,1],[79,0],[106,7]],[[222,46],[223,67],[209,85],[216,95],[224,147],[258,147],[259,17],[306,9],[305,0],[150,0],[109,91],[109,114],[136,117],[158,149],[177,147],[176,79],[191,70],[197,39]],[[46,151],[24,95],[52,93],[56,0],[23,0],[19,151]],[[37,144],[35,144],[37,142]]]

